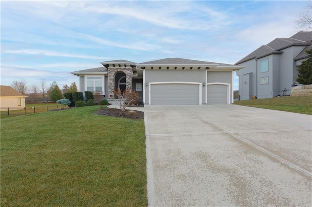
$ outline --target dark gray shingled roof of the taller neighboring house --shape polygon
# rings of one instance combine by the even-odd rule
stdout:
[[[267,45],[262,45],[260,48],[256,49],[254,52],[248,54],[243,59],[239,60],[235,65],[241,64],[251,59],[258,59],[261,57],[268,56],[270,54],[280,54],[283,53],[281,50],[291,47],[291,46],[307,46],[312,44],[312,32],[298,32],[289,38],[276,38]]]

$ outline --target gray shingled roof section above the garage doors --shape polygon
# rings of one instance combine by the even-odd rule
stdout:
[[[144,63],[139,63],[139,65],[218,65],[218,66],[235,66],[224,63],[206,62],[200,60],[190,60],[183,58],[165,58],[160,60],[154,60]]]

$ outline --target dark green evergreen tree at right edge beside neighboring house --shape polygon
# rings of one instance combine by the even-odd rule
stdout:
[[[298,66],[298,78],[296,81],[299,84],[309,85],[312,84],[312,49],[306,51],[309,55],[308,59],[301,62]]]

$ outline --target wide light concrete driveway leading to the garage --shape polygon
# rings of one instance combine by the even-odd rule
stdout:
[[[146,105],[149,206],[312,206],[312,116]]]

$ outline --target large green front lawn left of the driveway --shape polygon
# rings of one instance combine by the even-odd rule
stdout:
[[[98,108],[1,120],[1,207],[147,206],[144,121]]]

